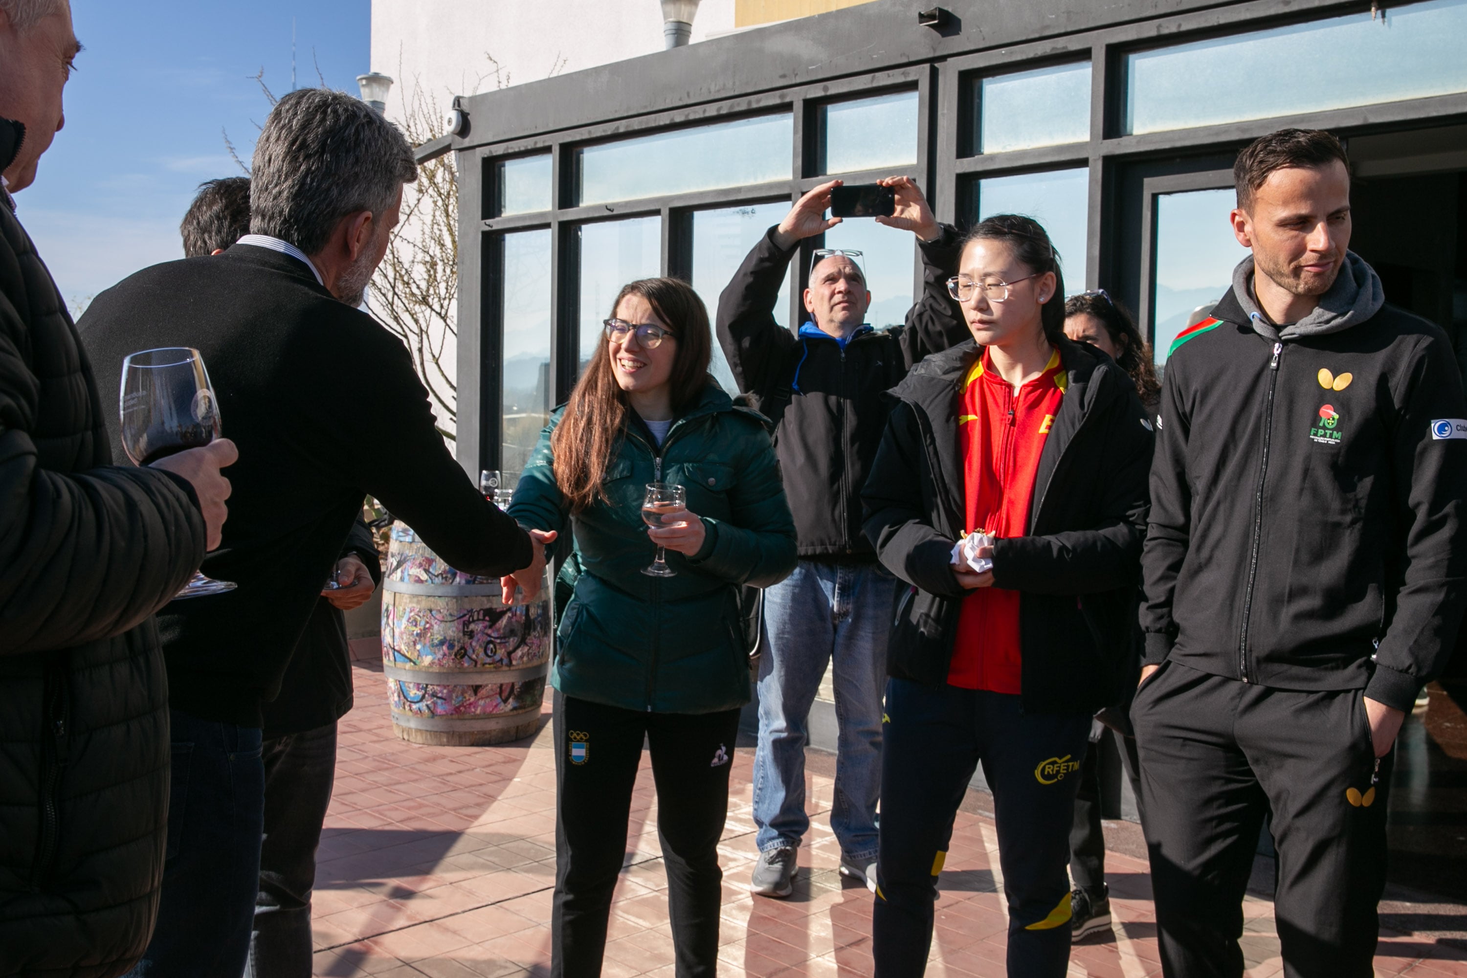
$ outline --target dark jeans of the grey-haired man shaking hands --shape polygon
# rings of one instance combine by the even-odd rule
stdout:
[[[133,978],[239,978],[260,887],[260,729],[170,710],[173,780],[158,924]]]

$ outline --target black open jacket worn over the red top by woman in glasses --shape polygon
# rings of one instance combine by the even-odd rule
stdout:
[[[1068,390],[1034,477],[1030,535],[993,547],[993,587],[1020,591],[1022,702],[1030,713],[1094,713],[1115,702],[1134,655],[1152,427],[1131,378],[1087,343],[1059,339]],[[974,342],[934,353],[898,399],[861,499],[866,534],[898,594],[888,672],[948,682],[967,594],[952,576],[962,535],[958,441]]]

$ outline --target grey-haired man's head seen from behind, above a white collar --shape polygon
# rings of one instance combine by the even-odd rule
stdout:
[[[412,148],[367,103],[326,88],[282,98],[255,144],[249,230],[310,255],[330,290],[361,305],[387,254]]]

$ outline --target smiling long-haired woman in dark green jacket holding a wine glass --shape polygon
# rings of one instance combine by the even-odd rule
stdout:
[[[750,698],[739,588],[794,570],[795,525],[769,424],[709,377],[710,349],[707,309],[687,283],[625,286],[509,507],[527,529],[560,532],[569,521],[575,538],[552,674],[557,977],[600,974],[644,738],[676,972],[717,965],[717,842]],[[687,493],[687,507],[653,529],[643,523],[648,482]],[[641,573],[657,545],[675,576]]]

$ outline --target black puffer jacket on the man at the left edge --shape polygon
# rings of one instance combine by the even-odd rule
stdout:
[[[0,119],[0,170],[21,128]],[[70,317],[0,191],[0,975],[117,975],[153,931],[169,798],[150,617],[204,557],[192,490],[111,468]]]

